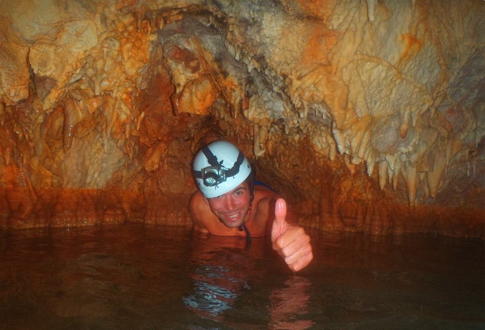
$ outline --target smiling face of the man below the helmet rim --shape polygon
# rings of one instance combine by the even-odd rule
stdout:
[[[229,228],[243,224],[249,209],[251,192],[246,182],[214,198],[207,198],[212,212]]]

